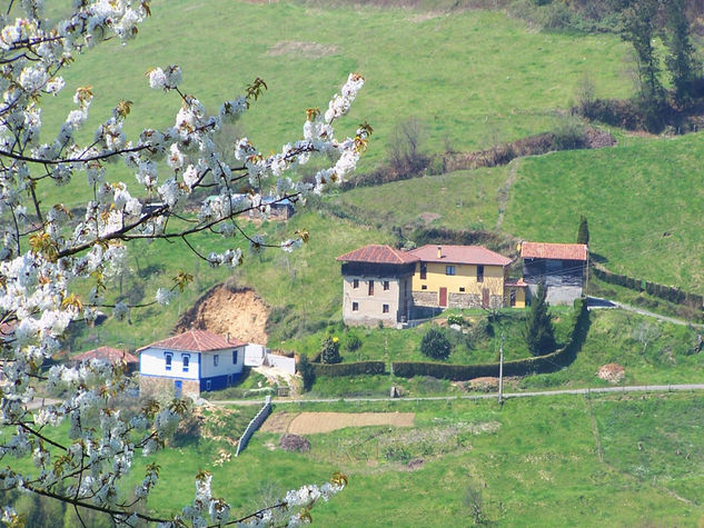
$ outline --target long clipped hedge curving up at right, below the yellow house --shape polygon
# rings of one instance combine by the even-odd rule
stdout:
[[[586,337],[589,325],[589,313],[583,299],[575,301],[575,325],[569,342],[565,348],[555,352],[534,358],[517,359],[504,362],[504,376],[527,376],[529,373],[545,373],[559,370],[568,366]],[[394,361],[391,363],[394,375],[401,378],[414,376],[433,376],[434,378],[449,379],[453,381],[467,380],[483,377],[498,377],[498,363],[483,365],[452,365],[430,361]]]

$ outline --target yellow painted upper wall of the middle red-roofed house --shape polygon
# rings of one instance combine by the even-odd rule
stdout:
[[[446,275],[445,267],[454,266],[455,275]],[[416,265],[413,276],[414,291],[439,291],[447,288],[448,293],[459,293],[459,288],[465,288],[462,293],[482,295],[484,288],[488,288],[492,296],[504,296],[505,271],[500,266],[485,266],[484,281],[477,282],[477,267],[474,265],[453,265],[452,262],[427,262],[427,276],[420,279],[420,263]],[[423,286],[427,289],[423,289]]]

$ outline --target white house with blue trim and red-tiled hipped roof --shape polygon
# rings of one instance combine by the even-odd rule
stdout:
[[[197,397],[225,389],[241,377],[246,346],[206,330],[152,342],[137,350],[140,392]]]

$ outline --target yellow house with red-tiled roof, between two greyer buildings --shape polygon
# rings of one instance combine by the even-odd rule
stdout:
[[[523,285],[507,285],[508,265],[512,259],[503,255],[480,246],[433,245],[414,249],[409,253],[419,259],[412,287],[416,306],[439,308],[525,306]]]

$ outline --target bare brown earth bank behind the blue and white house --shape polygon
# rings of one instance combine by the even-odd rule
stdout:
[[[175,331],[209,330],[259,345],[267,343],[269,308],[254,290],[227,283],[216,286],[179,318]]]

